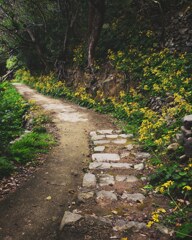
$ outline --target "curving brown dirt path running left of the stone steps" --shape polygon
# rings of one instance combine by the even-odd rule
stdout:
[[[60,142],[43,167],[0,203],[0,239],[61,239],[58,232],[63,213],[73,203],[77,186],[82,183],[82,169],[88,165],[89,132],[114,126],[104,115],[42,96],[23,84],[15,87],[52,115]]]

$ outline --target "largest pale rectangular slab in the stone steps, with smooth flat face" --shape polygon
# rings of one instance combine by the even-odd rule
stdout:
[[[118,162],[120,156],[116,153],[94,153],[92,154],[92,160],[97,162]]]

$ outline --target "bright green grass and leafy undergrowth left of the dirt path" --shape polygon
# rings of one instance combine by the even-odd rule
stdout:
[[[25,132],[32,111],[36,111],[33,130]],[[47,118],[37,112],[37,107],[25,101],[10,83],[0,84],[0,178],[17,171],[20,164],[34,161],[54,143],[43,126]]]

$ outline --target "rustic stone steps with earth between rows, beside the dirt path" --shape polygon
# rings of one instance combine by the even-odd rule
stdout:
[[[78,190],[79,207],[71,214],[86,219],[86,224],[97,219],[111,231],[107,238],[89,234],[87,239],[166,239],[157,238],[146,227],[153,205],[153,198],[143,189],[150,154],[134,144],[133,134],[119,130],[92,131],[90,142],[91,161]],[[66,219],[64,214],[61,229],[71,216]]]

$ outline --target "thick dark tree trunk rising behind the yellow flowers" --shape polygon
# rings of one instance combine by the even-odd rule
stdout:
[[[105,16],[105,0],[89,0],[89,44],[88,67],[94,65],[95,48],[102,30]]]

